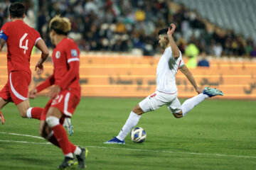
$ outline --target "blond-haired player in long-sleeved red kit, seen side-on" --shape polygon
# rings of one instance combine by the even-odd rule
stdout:
[[[74,40],[67,37],[71,29],[68,18],[55,16],[50,21],[50,40],[55,45],[53,50],[53,74],[42,84],[29,92],[30,98],[48,86],[54,85],[48,95],[50,101],[41,115],[40,133],[53,145],[60,147],[65,159],[60,169],[74,166],[73,154],[78,159],[78,168],[85,168],[87,149],[76,147],[68,140],[63,128],[63,120],[71,117],[80,102],[81,89],[79,84],[79,50]]]

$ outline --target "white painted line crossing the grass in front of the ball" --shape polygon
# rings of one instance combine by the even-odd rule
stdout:
[[[31,143],[31,144],[41,144],[49,145],[49,142],[28,142],[28,141],[16,141],[16,140],[0,140],[0,142],[18,142],[18,143]],[[232,155],[232,154],[206,154],[206,153],[196,153],[196,152],[173,152],[173,151],[161,151],[161,150],[149,150],[149,149],[129,149],[129,148],[116,148],[116,147],[97,147],[97,146],[85,146],[89,148],[99,148],[99,149],[122,149],[130,151],[140,151],[140,152],[159,152],[159,153],[169,153],[169,154],[193,154],[193,155],[204,155],[210,157],[239,157],[239,158],[256,158],[254,156],[244,156],[244,155]]]

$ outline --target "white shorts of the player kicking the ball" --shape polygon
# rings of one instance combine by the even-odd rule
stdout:
[[[166,105],[171,113],[178,113],[181,111],[181,102],[177,96],[177,92],[175,94],[166,94],[155,91],[154,94],[147,96],[143,101],[139,102],[139,107],[142,108],[142,111],[149,112]]]

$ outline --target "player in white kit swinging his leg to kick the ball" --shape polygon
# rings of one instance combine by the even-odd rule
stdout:
[[[132,109],[129,118],[119,132],[119,135],[105,143],[124,144],[124,138],[127,137],[132,128],[139,123],[142,113],[155,111],[161,106],[166,105],[175,118],[182,118],[188,111],[191,111],[192,108],[206,98],[218,95],[223,96],[222,91],[219,91],[218,89],[206,87],[203,90],[197,86],[193,75],[183,63],[181,52],[178,50],[174,38],[172,37],[175,28],[176,26],[171,23],[169,28],[159,30],[159,44],[164,49],[164,54],[161,56],[156,68],[156,91],[154,94],[147,96]],[[176,73],[178,72],[178,69],[181,70],[198,93],[197,96],[184,101],[182,105],[177,98],[178,90],[176,87]]]

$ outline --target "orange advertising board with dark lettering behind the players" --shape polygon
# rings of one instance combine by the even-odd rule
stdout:
[[[37,75],[33,69],[40,55],[31,57],[33,73],[31,86],[39,84],[53,73],[49,59],[45,72]],[[80,56],[80,85],[82,96],[105,97],[146,97],[156,89],[156,65],[159,59],[153,57],[132,56]],[[230,62],[224,60],[210,61],[208,68],[190,69],[198,86],[216,87],[223,91],[221,98],[256,99],[256,63]],[[0,55],[0,88],[8,79],[6,54]],[[178,97],[188,98],[196,95],[193,86],[186,77],[178,72],[176,75]],[[43,91],[45,93],[46,91]]]

